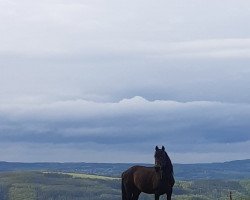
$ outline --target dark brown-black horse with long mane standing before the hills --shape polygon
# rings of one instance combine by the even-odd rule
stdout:
[[[165,151],[155,147],[155,166],[132,166],[122,173],[122,200],[138,200],[141,192],[154,194],[159,200],[163,194],[171,200],[173,186],[173,165]]]

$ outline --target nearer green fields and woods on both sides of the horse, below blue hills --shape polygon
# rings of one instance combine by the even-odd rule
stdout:
[[[173,200],[250,200],[250,180],[177,181]],[[1,200],[120,200],[120,179],[81,173],[0,173]],[[153,199],[141,195],[140,200]],[[162,198],[163,199],[163,198]]]

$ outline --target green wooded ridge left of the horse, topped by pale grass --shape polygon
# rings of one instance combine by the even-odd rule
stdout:
[[[1,200],[119,199],[119,181],[43,172],[0,173]],[[88,177],[88,178],[87,178]]]

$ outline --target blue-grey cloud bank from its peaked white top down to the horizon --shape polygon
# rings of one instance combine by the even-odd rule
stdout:
[[[163,144],[175,162],[190,163],[244,159],[250,150],[248,104],[134,97],[115,103],[4,105],[0,110],[1,146],[18,147],[7,148],[9,160],[18,155],[33,161],[152,162],[153,147]],[[33,153],[25,157],[28,151]],[[102,152],[110,158],[105,160]]]

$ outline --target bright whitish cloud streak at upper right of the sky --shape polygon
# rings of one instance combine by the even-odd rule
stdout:
[[[249,58],[249,38],[208,39],[159,45],[159,55],[165,58]],[[156,49],[156,48],[155,48]],[[158,56],[159,58],[160,56]]]

